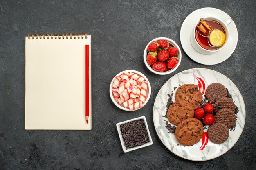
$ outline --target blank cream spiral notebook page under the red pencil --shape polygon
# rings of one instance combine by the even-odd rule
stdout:
[[[25,129],[90,130],[91,36],[26,37]],[[89,45],[89,119],[85,120],[85,45]]]

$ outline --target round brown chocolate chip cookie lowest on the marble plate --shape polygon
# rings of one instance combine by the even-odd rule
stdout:
[[[203,133],[202,122],[196,118],[188,118],[178,124],[175,137],[180,144],[190,146],[198,143]]]

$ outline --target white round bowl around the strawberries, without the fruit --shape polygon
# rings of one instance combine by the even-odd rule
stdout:
[[[175,48],[177,48],[177,49],[179,50],[179,51],[178,51],[178,55],[177,55],[177,57],[178,57],[178,59],[179,59],[178,64],[176,65],[175,68],[173,68],[173,69],[171,69],[171,70],[169,70],[169,71],[167,71],[167,72],[157,72],[157,71],[155,71],[150,65],[148,65],[148,63],[147,63],[147,52],[148,52],[148,46],[149,46],[149,44],[150,44],[151,42],[153,42],[153,41],[158,41],[158,40],[160,40],[160,39],[163,39],[163,40],[168,41],[168,42],[171,44],[171,46],[173,46],[173,47],[175,47]],[[144,56],[144,63],[146,64],[147,68],[148,68],[151,72],[153,72],[153,73],[155,73],[155,74],[159,74],[159,75],[166,75],[166,74],[170,74],[170,73],[174,72],[174,71],[179,67],[180,62],[181,62],[181,58],[182,58],[182,57],[181,57],[180,47],[178,46],[178,44],[175,43],[172,39],[165,38],[165,37],[155,38],[155,39],[153,39],[152,41],[150,41],[150,42],[148,43],[148,45],[146,46],[145,50],[144,50],[143,56]]]

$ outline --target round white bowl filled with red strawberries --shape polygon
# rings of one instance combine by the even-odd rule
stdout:
[[[180,62],[180,47],[169,38],[155,38],[144,50],[144,63],[155,74],[170,74],[179,67]]]

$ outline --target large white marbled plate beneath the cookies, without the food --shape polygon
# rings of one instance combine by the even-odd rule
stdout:
[[[235,101],[235,104],[239,109],[239,112],[237,113],[235,130],[229,131],[229,138],[227,139],[227,141],[222,144],[214,144],[209,140],[204,150],[199,150],[202,144],[202,139],[200,139],[200,141],[193,146],[183,146],[179,144],[175,138],[175,135],[168,133],[168,129],[166,129],[166,124],[164,121],[168,119],[163,117],[164,115],[166,115],[167,110],[166,104],[169,98],[167,94],[171,94],[173,88],[179,87],[179,85],[189,83],[197,85],[198,81],[194,78],[194,75],[202,78],[206,87],[208,87],[208,85],[210,85],[211,83],[216,82],[224,85],[229,90],[230,94],[232,94],[233,100]],[[174,96],[176,90],[173,92],[173,102],[175,102]],[[226,153],[230,148],[232,148],[234,144],[236,144],[245,125],[245,103],[238,88],[231,80],[229,80],[229,78],[213,70],[204,68],[193,68],[176,74],[175,76],[170,78],[159,90],[153,108],[153,120],[157,135],[163,142],[164,146],[166,146],[166,148],[168,148],[171,152],[184,159],[189,159],[193,161],[206,161],[219,157],[220,155]],[[207,131],[207,129],[204,131]]]

